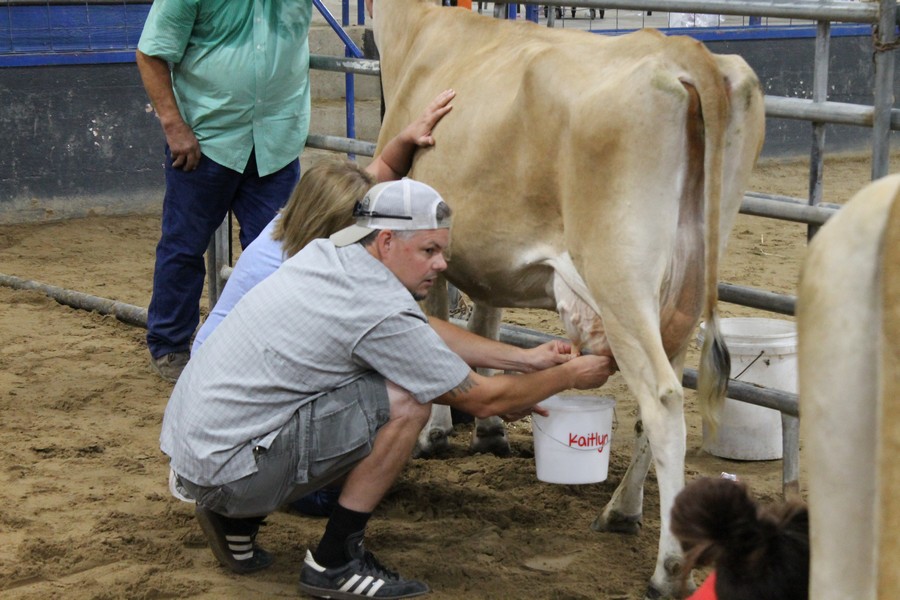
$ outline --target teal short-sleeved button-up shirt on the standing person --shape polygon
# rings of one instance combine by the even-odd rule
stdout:
[[[204,155],[260,176],[300,155],[309,132],[311,0],[156,0],[138,49],[172,65],[181,116]]]

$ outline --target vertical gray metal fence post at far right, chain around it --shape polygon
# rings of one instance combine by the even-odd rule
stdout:
[[[891,107],[894,103],[895,0],[880,0],[875,27],[875,114],[872,122],[872,179],[890,168]]]

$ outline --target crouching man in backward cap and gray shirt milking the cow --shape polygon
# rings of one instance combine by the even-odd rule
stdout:
[[[416,301],[447,267],[451,216],[429,186],[378,184],[354,215],[356,225],[310,243],[248,292],[191,358],[161,447],[213,554],[238,573],[272,563],[256,544],[266,515],[344,478],[300,589],[408,598],[428,586],[382,566],[363,534],[431,403],[514,420],[565,389],[603,385],[612,364],[562,342],[523,350],[429,320]]]

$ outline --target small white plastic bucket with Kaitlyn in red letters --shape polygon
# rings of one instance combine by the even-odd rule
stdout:
[[[532,417],[537,478],[547,483],[599,483],[609,470],[613,407],[607,396],[551,396],[550,416]]]

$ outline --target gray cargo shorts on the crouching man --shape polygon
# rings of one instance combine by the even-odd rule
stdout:
[[[372,452],[390,415],[384,378],[368,374],[300,407],[268,448],[254,449],[256,473],[213,487],[180,480],[213,512],[267,515],[346,475]]]

